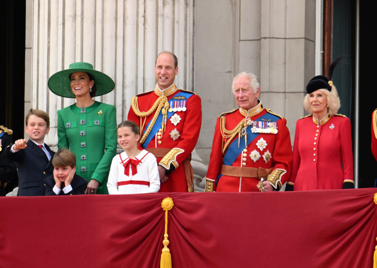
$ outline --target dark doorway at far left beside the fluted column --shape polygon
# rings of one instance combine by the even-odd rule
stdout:
[[[24,135],[25,99],[25,20],[26,1],[6,0],[2,2],[1,20],[5,26],[5,46],[2,59],[5,82],[0,98],[0,125],[13,130],[13,141]]]

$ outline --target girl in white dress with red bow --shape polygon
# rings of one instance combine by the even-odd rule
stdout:
[[[157,193],[160,179],[156,157],[138,149],[139,126],[132,121],[124,121],[118,126],[117,134],[124,152],[112,160],[107,181],[109,194]]]

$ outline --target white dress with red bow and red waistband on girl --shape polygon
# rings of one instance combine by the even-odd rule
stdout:
[[[159,188],[156,157],[150,152],[143,150],[134,159],[122,152],[113,158],[107,181],[109,194],[157,193]]]

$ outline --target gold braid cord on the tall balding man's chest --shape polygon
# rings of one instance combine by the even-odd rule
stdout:
[[[139,116],[140,117],[140,131],[143,131],[143,128],[144,128],[144,124],[143,126],[141,125],[141,118],[149,116],[152,114],[153,111],[156,110],[153,118],[152,118],[152,121],[150,122],[146,132],[144,133],[143,137],[141,137],[140,139],[140,144],[143,144],[145,142],[145,140],[147,139],[151,129],[153,128],[153,126],[155,125],[156,123],[156,119],[162,109],[162,123],[161,123],[161,127],[164,128],[164,131],[165,131],[165,128],[166,128],[166,120],[167,120],[167,109],[169,109],[169,102],[167,101],[167,97],[166,96],[161,96],[159,97],[155,103],[153,104],[153,106],[146,112],[141,112],[139,110],[139,106],[138,106],[138,97],[135,96],[132,98],[131,100],[131,107],[132,107],[132,110],[133,112],[135,112],[136,116]],[[145,123],[145,119],[144,119],[144,123]]]

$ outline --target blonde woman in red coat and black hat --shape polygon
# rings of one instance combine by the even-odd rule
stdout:
[[[306,89],[304,108],[310,115],[297,120],[285,190],[354,188],[351,122],[336,114],[340,107],[336,87],[317,75]]]

